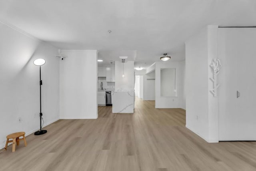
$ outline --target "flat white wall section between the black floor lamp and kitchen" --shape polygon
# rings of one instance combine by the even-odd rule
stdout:
[[[96,119],[97,51],[62,50],[60,61],[60,118]]]

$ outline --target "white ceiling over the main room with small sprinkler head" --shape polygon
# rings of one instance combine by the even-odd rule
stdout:
[[[184,41],[206,25],[256,25],[256,0],[0,0],[0,20],[61,49],[149,66],[163,53],[184,60]]]

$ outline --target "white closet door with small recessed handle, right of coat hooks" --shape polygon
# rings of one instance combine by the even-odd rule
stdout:
[[[219,141],[256,140],[256,30],[239,29],[219,29]]]

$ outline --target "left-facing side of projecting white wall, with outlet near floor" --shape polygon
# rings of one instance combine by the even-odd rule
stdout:
[[[208,140],[207,28],[186,41],[186,127]]]

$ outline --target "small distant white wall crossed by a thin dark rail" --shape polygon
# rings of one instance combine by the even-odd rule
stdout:
[[[143,76],[143,100],[155,100],[155,71]]]

